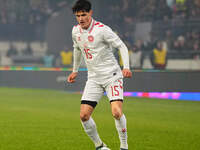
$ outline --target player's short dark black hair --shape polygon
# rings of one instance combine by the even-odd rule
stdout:
[[[92,5],[88,0],[78,0],[72,7],[72,11],[73,13],[76,13],[79,11],[89,12],[91,8],[92,8]]]

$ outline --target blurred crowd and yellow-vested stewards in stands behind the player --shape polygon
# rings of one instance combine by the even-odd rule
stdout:
[[[164,69],[169,58],[200,58],[200,0],[91,1],[97,20],[111,26],[127,44],[133,68],[142,68],[147,56],[158,69]],[[71,8],[74,0],[0,0],[0,3],[0,40],[25,41],[27,49],[23,54],[32,55],[32,42],[45,42],[48,19],[62,9]],[[138,23],[151,23],[148,39],[136,36],[135,33],[140,32],[137,31]],[[47,46],[41,44],[39,47]],[[45,58],[53,60],[59,56],[60,63],[55,59],[54,65],[70,66],[72,49],[69,47],[63,46],[57,56],[45,52],[46,56],[51,55]],[[17,53],[17,50],[10,50],[7,56]]]

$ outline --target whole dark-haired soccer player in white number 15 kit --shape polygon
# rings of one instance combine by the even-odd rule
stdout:
[[[78,25],[73,27],[74,47],[73,72],[68,76],[69,83],[75,82],[78,75],[81,55],[87,69],[88,80],[81,98],[80,119],[87,135],[93,141],[96,150],[107,149],[99,137],[96,124],[91,115],[100,98],[106,91],[110,100],[112,115],[120,139],[120,150],[128,150],[126,117],[122,112],[123,77],[130,78],[128,49],[121,39],[101,22],[92,18],[91,3],[78,0],[72,8]],[[123,70],[120,69],[112,48],[120,50]]]

